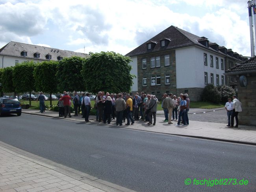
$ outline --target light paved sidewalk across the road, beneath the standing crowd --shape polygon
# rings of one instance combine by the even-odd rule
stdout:
[[[209,111],[214,111],[218,109],[191,109],[191,113],[204,113]],[[54,111],[45,111],[40,113],[38,110],[32,109],[22,109],[22,113],[34,114],[34,115],[43,115],[49,116],[52,118],[61,118],[59,117],[58,112]],[[159,114],[159,113],[157,113]],[[65,118],[66,120],[85,122],[84,118],[81,118],[82,115],[72,116],[72,118]],[[91,123],[87,124],[102,124],[95,120],[95,116],[89,116]],[[196,138],[206,138],[212,140],[221,140],[228,142],[236,142],[243,144],[252,144],[256,145],[256,127],[254,126],[243,126],[239,125],[238,128],[229,128],[226,124],[223,123],[212,123],[212,122],[199,122],[199,121],[189,121],[188,126],[174,126],[177,121],[173,121],[173,124],[168,124],[163,122],[164,117],[156,116],[156,126],[148,126],[146,122],[141,120],[135,121],[134,125],[126,126],[123,124],[122,128],[128,129],[137,129],[143,131],[150,131],[156,133],[165,133],[171,135],[182,135],[187,137],[196,137]],[[116,126],[115,120],[111,122],[108,126]],[[120,126],[119,126],[120,127]]]

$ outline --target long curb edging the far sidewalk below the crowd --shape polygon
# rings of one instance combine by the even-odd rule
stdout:
[[[219,110],[223,110],[223,109],[219,109]],[[219,111],[219,110],[214,110],[214,111]],[[211,111],[208,111],[211,112]],[[46,116],[46,117],[52,117],[52,118],[57,118],[57,119],[62,119],[59,117],[53,117],[53,116],[49,116],[49,115],[45,115],[45,114],[33,114],[33,113],[28,113],[28,112],[22,112],[25,114],[32,114],[32,115],[37,115],[37,116]],[[206,112],[203,112],[206,113]],[[193,114],[193,113],[192,113]],[[71,121],[76,121],[76,122],[81,122],[78,120],[73,120],[68,118],[67,120],[71,120]],[[84,122],[85,123],[85,122]],[[96,124],[94,122],[89,122],[91,124]],[[115,125],[108,125],[108,124],[104,124],[104,126],[113,126],[113,127],[119,127],[119,126],[115,126]],[[122,127],[124,129],[133,129],[133,128],[128,128],[128,127]],[[247,144],[247,145],[254,145],[256,146],[255,142],[247,142],[247,141],[239,141],[239,140],[228,140],[228,139],[222,139],[222,138],[213,138],[213,137],[202,137],[202,136],[195,136],[195,135],[181,135],[181,134],[174,134],[174,133],[162,133],[162,132],[157,132],[157,131],[148,131],[148,130],[141,130],[141,129],[133,129],[133,130],[137,130],[137,131],[147,131],[147,132],[151,132],[151,133],[161,133],[161,134],[166,134],[166,135],[176,135],[176,136],[182,136],[182,137],[191,137],[191,138],[201,138],[201,139],[207,139],[207,140],[216,140],[216,141],[223,141],[223,142],[230,142],[230,143],[237,143],[237,144]]]

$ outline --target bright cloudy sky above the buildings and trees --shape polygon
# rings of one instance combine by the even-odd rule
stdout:
[[[125,55],[173,25],[250,56],[247,1],[0,0],[0,48],[16,41]]]

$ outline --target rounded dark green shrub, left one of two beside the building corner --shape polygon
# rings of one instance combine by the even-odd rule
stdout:
[[[204,87],[201,98],[202,101],[219,103],[221,101],[221,94],[217,87],[208,84]]]

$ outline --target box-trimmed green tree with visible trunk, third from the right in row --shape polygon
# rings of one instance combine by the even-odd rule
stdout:
[[[57,92],[57,65],[58,61],[43,61],[34,69],[35,89],[50,93],[50,106],[52,106],[52,93]]]

